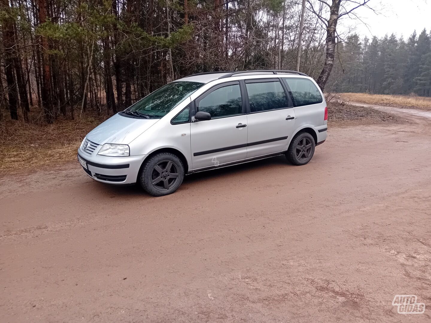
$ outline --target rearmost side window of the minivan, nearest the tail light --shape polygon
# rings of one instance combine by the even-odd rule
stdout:
[[[322,103],[323,99],[315,84],[306,78],[284,78],[290,87],[294,106]]]

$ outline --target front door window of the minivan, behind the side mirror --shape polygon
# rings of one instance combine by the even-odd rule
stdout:
[[[240,85],[226,85],[212,91],[199,101],[197,111],[208,112],[212,118],[241,114]]]

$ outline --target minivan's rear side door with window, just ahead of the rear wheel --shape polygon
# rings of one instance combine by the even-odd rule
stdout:
[[[287,150],[295,112],[279,78],[245,80],[247,158]],[[289,138],[289,140],[288,140]]]

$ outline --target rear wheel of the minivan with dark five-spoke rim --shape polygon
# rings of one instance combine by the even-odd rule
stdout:
[[[305,145],[305,146],[304,146]],[[294,165],[307,164],[314,155],[315,141],[308,132],[300,132],[290,142],[286,157]]]

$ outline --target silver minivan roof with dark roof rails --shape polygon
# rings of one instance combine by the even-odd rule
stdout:
[[[257,70],[257,71],[221,71],[221,72],[208,72],[208,73],[199,73],[190,76],[186,76],[185,78],[180,78],[175,81],[190,81],[190,82],[200,82],[200,83],[209,83],[211,81],[218,80],[219,78],[226,78],[228,81],[229,77],[233,76],[254,76],[254,75],[282,75],[282,76],[306,76],[308,75],[304,73],[300,73],[297,71],[284,71],[284,70]]]

